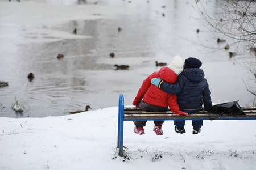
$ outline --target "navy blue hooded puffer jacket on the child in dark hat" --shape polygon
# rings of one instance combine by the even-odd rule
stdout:
[[[202,108],[203,103],[205,110],[212,107],[210,89],[201,69],[184,69],[176,83],[163,81],[160,88],[170,94],[177,94],[177,103],[183,112],[197,112]]]

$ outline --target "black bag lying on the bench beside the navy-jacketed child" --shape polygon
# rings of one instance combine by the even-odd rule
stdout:
[[[245,112],[243,112],[242,108],[238,104],[238,101],[232,101],[232,102],[220,103],[220,104],[213,105],[208,110],[208,112],[220,114],[220,116],[218,116],[216,118],[220,118],[223,114],[234,115],[234,116],[245,114]],[[212,118],[210,120],[214,120],[216,118]]]

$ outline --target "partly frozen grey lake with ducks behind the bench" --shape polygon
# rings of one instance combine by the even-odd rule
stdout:
[[[9,82],[0,87],[0,117],[113,107],[121,92],[131,105],[143,80],[160,69],[155,61],[170,63],[176,55],[203,62],[213,103],[253,105],[244,81],[255,82],[239,64],[242,54],[230,59],[229,51],[205,48],[226,44],[217,44],[192,6],[195,0],[0,1],[0,81]],[[65,57],[57,59],[59,53]],[[130,69],[114,70],[115,64]],[[35,74],[31,82],[28,73]],[[15,98],[23,114],[11,109]]]

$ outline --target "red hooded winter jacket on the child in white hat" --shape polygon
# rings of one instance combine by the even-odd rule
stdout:
[[[176,95],[168,94],[154,84],[151,84],[152,78],[159,77],[168,83],[175,83],[177,80],[177,74],[174,73],[174,71],[169,67],[162,67],[159,71],[155,71],[143,81],[142,86],[139,88],[138,94],[133,101],[133,105],[137,105],[139,101],[143,99],[149,104],[161,107],[169,106],[172,112],[179,111],[180,107],[177,104]]]

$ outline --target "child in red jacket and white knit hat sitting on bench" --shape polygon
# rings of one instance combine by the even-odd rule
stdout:
[[[175,83],[177,76],[183,71],[183,65],[184,60],[180,56],[176,56],[168,67],[162,67],[159,71],[155,71],[148,76],[148,78],[143,81],[141,88],[139,88],[133,105],[146,112],[165,112],[169,106],[172,113],[187,115],[187,113],[180,111],[180,107],[176,101],[176,95],[168,94],[154,86],[154,84],[151,85],[151,79],[159,77],[168,83]],[[146,126],[146,122],[147,121],[134,121],[136,126],[134,133],[140,135],[144,134],[143,127]],[[155,126],[153,131],[155,131],[157,135],[163,135],[163,122],[164,121],[154,121]]]

